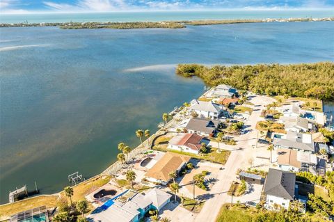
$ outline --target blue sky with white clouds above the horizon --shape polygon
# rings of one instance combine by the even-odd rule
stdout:
[[[0,13],[334,8],[334,0],[0,0]]]

